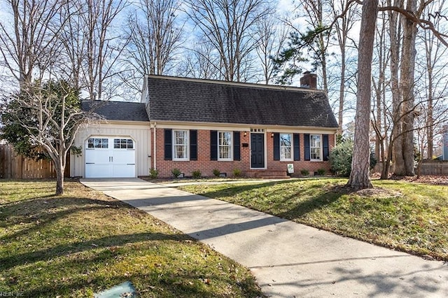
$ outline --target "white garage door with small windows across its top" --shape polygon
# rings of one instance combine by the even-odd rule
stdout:
[[[85,178],[135,177],[135,143],[130,138],[94,136],[85,143]]]

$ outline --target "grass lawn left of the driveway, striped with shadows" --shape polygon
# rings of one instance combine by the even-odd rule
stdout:
[[[258,297],[248,269],[127,204],[66,183],[0,180],[0,291],[93,297],[131,281],[140,297]]]

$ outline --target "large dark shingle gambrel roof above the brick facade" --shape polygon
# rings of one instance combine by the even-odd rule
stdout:
[[[151,120],[337,127],[323,92],[148,76]]]

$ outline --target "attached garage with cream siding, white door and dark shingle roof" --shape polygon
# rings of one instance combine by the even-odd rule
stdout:
[[[84,178],[148,176],[151,168],[151,126],[144,104],[123,101],[84,101],[85,111],[102,120],[81,127],[71,155],[70,174]]]

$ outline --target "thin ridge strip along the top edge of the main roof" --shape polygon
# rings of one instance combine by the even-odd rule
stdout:
[[[179,76],[160,76],[160,75],[145,75],[146,78],[158,78],[164,80],[182,80],[187,82],[196,82],[196,83],[210,83],[216,85],[230,85],[237,87],[255,87],[261,89],[269,89],[269,90],[288,90],[288,91],[302,91],[302,92],[318,92],[321,93],[323,90],[319,89],[311,89],[306,87],[297,87],[297,86],[286,86],[286,85],[266,85],[266,84],[258,84],[258,83],[245,83],[245,82],[231,82],[228,80],[211,80],[205,78],[183,78]]]

